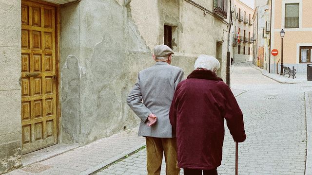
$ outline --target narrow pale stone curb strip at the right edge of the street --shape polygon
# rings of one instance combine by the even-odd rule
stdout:
[[[312,113],[309,92],[305,92],[306,124],[307,124],[307,157],[305,175],[312,175]],[[312,91],[310,91],[312,93]],[[312,99],[311,99],[312,100]]]

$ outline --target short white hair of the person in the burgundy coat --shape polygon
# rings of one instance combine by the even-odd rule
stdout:
[[[214,56],[211,55],[199,55],[195,61],[194,68],[204,68],[207,70],[218,70],[220,68],[220,62]]]

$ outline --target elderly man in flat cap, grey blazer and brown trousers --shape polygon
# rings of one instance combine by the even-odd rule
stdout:
[[[146,139],[148,175],[160,175],[163,154],[166,175],[178,175],[176,135],[169,122],[169,110],[183,70],[171,66],[173,50],[166,45],[154,48],[156,64],[138,73],[127,103],[141,119],[138,135]]]

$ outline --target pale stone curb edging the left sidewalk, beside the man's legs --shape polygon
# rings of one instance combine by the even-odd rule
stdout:
[[[146,145],[146,143],[144,141],[144,142],[140,143],[139,145],[137,145],[136,147],[133,147],[133,148],[127,150],[127,151],[124,151],[124,152],[122,152],[121,154],[119,154],[117,156],[111,157],[111,158],[101,162],[100,164],[98,164],[98,165],[96,165],[96,166],[94,166],[92,168],[89,168],[89,169],[79,173],[79,175],[90,175],[90,174],[93,174],[93,173],[97,172],[98,170],[106,167],[107,165],[110,165],[110,164],[114,163],[115,161],[120,160],[120,159],[126,157],[127,155],[130,155],[130,154],[136,152],[137,150],[139,150],[141,147],[143,147],[145,145]]]

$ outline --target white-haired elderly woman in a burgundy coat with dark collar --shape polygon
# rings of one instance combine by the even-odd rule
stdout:
[[[234,141],[246,139],[243,114],[235,97],[216,75],[220,63],[200,55],[195,70],[176,88],[170,123],[176,131],[178,166],[184,175],[217,175],[221,165],[224,119]]]

